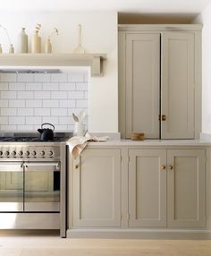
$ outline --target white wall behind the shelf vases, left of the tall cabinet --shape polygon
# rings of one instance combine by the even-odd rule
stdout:
[[[40,34],[47,38],[56,27],[59,36],[52,38],[53,51],[71,53],[78,43],[78,24],[82,25],[82,46],[88,53],[105,53],[105,75],[89,80],[89,132],[118,132],[117,81],[117,13],[116,12],[63,12],[15,13],[0,12],[1,25],[7,28],[14,48],[21,27],[31,37],[37,23]],[[43,40],[44,42],[44,40]],[[8,52],[4,31],[0,31],[3,51]]]

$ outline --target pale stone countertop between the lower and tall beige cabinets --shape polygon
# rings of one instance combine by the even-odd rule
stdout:
[[[69,144],[68,141],[66,143]],[[131,140],[108,140],[100,142],[89,142],[89,146],[118,146],[118,147],[154,147],[154,146],[198,146],[198,147],[209,147],[211,146],[211,141],[202,140],[144,140],[144,141],[131,141]]]

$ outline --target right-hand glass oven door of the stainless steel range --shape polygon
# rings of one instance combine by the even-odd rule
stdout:
[[[24,211],[60,211],[60,163],[25,162]]]

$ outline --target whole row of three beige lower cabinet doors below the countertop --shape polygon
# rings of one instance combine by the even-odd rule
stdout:
[[[205,152],[85,149],[72,162],[71,228],[204,227]]]

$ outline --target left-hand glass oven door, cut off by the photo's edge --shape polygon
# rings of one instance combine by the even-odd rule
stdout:
[[[0,212],[23,211],[23,164],[0,162]]]

